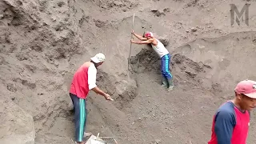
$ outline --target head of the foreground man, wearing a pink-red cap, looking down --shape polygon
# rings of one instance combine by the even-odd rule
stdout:
[[[234,92],[242,109],[252,110],[256,107],[256,82],[251,80],[238,82]]]

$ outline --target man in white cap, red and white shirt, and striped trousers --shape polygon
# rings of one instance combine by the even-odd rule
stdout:
[[[74,105],[75,120],[75,139],[79,144],[84,144],[83,135],[86,127],[86,97],[90,90],[94,90],[96,94],[101,94],[106,100],[113,99],[96,85],[97,67],[105,61],[105,55],[96,54],[90,58],[90,62],[85,62],[75,72],[74,78],[70,86],[70,98]]]

